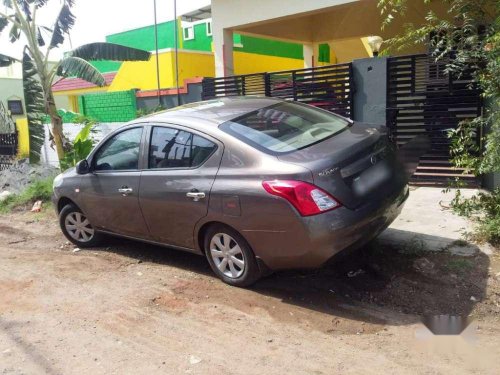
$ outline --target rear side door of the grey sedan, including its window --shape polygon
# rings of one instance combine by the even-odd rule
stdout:
[[[223,145],[204,133],[175,125],[148,129],[147,167],[139,200],[152,237],[194,248],[194,227],[207,215]]]

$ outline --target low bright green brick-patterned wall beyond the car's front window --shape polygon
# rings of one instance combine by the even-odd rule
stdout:
[[[80,113],[100,122],[125,122],[137,117],[135,90],[82,95]]]

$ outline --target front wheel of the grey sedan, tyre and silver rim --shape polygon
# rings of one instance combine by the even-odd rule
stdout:
[[[92,227],[85,214],[74,204],[63,207],[59,213],[59,225],[64,236],[78,247],[95,247],[102,240],[102,234]]]

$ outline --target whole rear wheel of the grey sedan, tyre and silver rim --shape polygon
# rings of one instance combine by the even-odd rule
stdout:
[[[261,277],[250,245],[228,226],[209,227],[204,237],[204,250],[210,267],[226,284],[247,287]]]

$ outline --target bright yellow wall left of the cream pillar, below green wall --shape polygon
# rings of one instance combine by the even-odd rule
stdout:
[[[187,78],[213,77],[214,56],[210,53],[179,51],[179,85]],[[160,53],[160,87],[175,87],[175,54],[173,51]],[[127,61],[118,71],[109,91],[130,89],[156,90],[156,56],[149,61]]]

